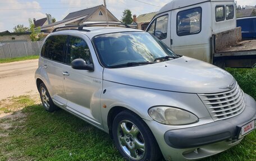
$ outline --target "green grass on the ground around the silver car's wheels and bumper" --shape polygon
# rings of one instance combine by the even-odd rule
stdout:
[[[254,99],[255,70],[227,69]],[[12,98],[4,105],[7,101],[0,102],[0,108],[25,117],[0,118],[0,160],[124,160],[106,133],[81,119],[63,110],[48,113],[29,96]],[[204,159],[223,160],[256,160],[256,131],[239,145]]]

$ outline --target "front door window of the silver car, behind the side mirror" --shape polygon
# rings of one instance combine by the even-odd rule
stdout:
[[[71,36],[67,47],[67,63],[70,64],[77,58],[82,58],[90,64],[90,50],[85,40]]]

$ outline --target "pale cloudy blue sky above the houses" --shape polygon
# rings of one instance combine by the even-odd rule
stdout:
[[[184,0],[183,0],[184,1]],[[189,0],[186,0],[189,1]],[[236,0],[240,6],[255,6],[256,0]],[[143,3],[144,2],[144,3]],[[108,10],[117,17],[122,17],[125,9],[132,15],[141,15],[158,11],[170,0],[106,0]],[[49,13],[57,21],[68,13],[103,4],[103,0],[0,0],[0,32],[13,31],[18,24],[29,26],[28,19],[42,19]]]

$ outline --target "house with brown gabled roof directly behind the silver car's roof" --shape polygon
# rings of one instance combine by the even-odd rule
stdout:
[[[61,26],[82,25],[93,22],[106,22],[105,7],[103,5],[86,8],[76,12],[69,13],[63,20],[52,24],[44,25],[41,31],[51,33],[53,29]],[[108,22],[120,22],[118,19],[107,10]]]

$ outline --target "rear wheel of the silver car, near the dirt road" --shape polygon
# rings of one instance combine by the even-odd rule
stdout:
[[[44,83],[41,83],[39,85],[39,93],[40,93],[40,98],[41,98],[43,107],[46,111],[53,112],[58,109],[58,107],[56,107],[56,105],[53,103],[52,98],[46,86],[44,85]]]

